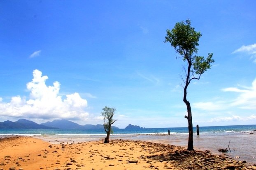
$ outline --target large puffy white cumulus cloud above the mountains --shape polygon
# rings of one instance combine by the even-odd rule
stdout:
[[[0,98],[0,116],[42,119],[84,119],[88,116],[84,111],[87,101],[79,93],[65,95],[63,99],[59,95],[61,84],[54,82],[53,86],[47,86],[47,79],[41,71],[34,70],[32,81],[27,83],[28,99],[18,95],[8,103]]]

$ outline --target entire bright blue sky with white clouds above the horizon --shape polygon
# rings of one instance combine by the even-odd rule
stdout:
[[[256,124],[254,0],[0,1],[0,122],[186,127],[185,63],[166,29],[190,19],[215,62],[188,88],[193,125]],[[178,57],[178,59],[176,59]]]

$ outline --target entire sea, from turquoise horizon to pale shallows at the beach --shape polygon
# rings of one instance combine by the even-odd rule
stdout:
[[[193,145],[196,150],[210,150],[213,154],[221,154],[219,149],[230,149],[228,154],[232,159],[256,164],[256,133],[250,134],[256,125],[212,126],[193,129]],[[168,135],[170,130],[170,135]],[[106,137],[105,131],[86,129],[0,129],[0,138],[7,136],[33,136],[52,144],[67,142],[78,143],[98,141]],[[140,140],[156,143],[179,145],[186,148],[188,143],[187,127],[115,129],[111,139]]]

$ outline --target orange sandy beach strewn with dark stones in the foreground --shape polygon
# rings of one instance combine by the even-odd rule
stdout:
[[[115,139],[51,144],[33,137],[0,139],[0,170],[256,170],[255,165],[184,147]]]

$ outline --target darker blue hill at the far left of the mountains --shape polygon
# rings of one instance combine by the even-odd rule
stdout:
[[[0,122],[0,129],[52,129],[52,127],[39,125],[30,120],[20,119],[16,122],[9,120]]]

